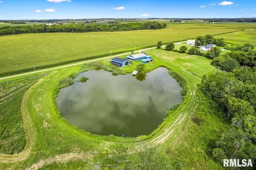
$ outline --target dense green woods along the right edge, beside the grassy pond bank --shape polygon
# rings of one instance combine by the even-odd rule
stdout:
[[[237,51],[214,57],[216,73],[202,77],[200,90],[223,109],[230,121],[212,154],[223,159],[252,159],[256,163],[256,51],[237,45]]]

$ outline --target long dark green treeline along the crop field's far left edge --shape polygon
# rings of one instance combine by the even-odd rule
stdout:
[[[127,23],[127,24],[34,24],[33,26],[5,26],[0,28],[0,36],[11,34],[26,34],[26,33],[44,33],[44,32],[116,32],[116,31],[131,31],[131,30],[158,30],[166,28],[167,24],[158,22],[145,23]]]

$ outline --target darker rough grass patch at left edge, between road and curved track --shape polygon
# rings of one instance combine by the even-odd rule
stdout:
[[[24,149],[26,136],[20,115],[24,93],[48,73],[0,82],[0,152],[16,154]]]

